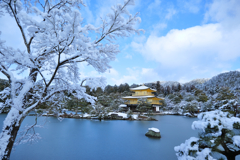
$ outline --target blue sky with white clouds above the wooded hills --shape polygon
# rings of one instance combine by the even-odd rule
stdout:
[[[98,25],[99,17],[123,0],[84,2],[84,22]],[[136,0],[129,10],[140,12],[142,22],[136,27],[145,33],[117,40],[120,53],[106,73],[99,74],[85,64],[81,73],[105,76],[111,85],[131,85],[157,80],[183,83],[240,70],[239,8],[239,0]],[[7,27],[0,26],[3,37],[18,34],[7,34]],[[19,41],[14,39],[20,46]]]

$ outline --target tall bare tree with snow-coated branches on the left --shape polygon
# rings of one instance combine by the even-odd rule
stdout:
[[[37,106],[48,101],[54,106],[64,93],[94,103],[96,98],[86,94],[84,86],[104,87],[105,79],[81,77],[79,63],[98,72],[110,68],[119,52],[115,39],[141,31],[135,29],[141,20],[138,14],[127,10],[133,4],[125,0],[112,6],[102,23],[93,26],[83,23],[82,0],[0,1],[0,16],[15,20],[25,45],[23,50],[7,46],[0,37],[0,72],[9,81],[0,93],[0,99],[6,99],[0,108],[10,107],[0,134],[0,159],[9,159],[23,119]],[[27,76],[17,78],[21,73]]]

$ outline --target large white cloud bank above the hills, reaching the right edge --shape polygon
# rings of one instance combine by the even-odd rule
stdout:
[[[205,22],[215,23],[172,29],[160,37],[152,32],[144,43],[132,42],[132,46],[148,60],[159,62],[155,70],[164,80],[210,78],[231,70],[240,58],[240,3],[236,3],[214,1],[209,5]]]

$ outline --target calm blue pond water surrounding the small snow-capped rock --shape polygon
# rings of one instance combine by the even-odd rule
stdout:
[[[0,127],[6,115],[0,115]],[[47,123],[38,128],[42,139],[14,148],[11,160],[175,160],[174,146],[180,145],[197,132],[191,124],[197,118],[155,116],[158,121],[82,120],[40,118]],[[22,127],[34,123],[26,117]],[[160,129],[161,139],[145,136],[148,128]]]

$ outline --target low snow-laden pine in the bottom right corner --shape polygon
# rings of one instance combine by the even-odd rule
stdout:
[[[200,130],[199,138],[191,137],[176,146],[178,159],[214,159],[212,152],[234,160],[240,154],[240,119],[220,110],[201,113],[192,129]]]

